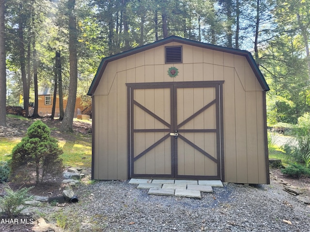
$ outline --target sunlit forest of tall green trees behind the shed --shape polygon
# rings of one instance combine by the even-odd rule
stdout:
[[[35,102],[38,86],[56,84],[74,111],[102,58],[170,35],[250,51],[269,126],[310,111],[310,0],[0,0],[0,23],[2,126],[3,106]]]

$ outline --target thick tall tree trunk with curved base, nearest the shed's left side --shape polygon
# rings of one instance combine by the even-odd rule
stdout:
[[[73,131],[73,117],[77,100],[78,58],[77,58],[77,18],[74,13],[76,0],[68,0],[69,9],[69,64],[70,84],[66,110],[62,120],[61,131]]]

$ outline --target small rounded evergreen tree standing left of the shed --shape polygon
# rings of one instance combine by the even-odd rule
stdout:
[[[35,173],[36,184],[42,183],[45,176],[62,173],[61,155],[62,149],[58,141],[50,137],[47,125],[35,121],[12,150],[12,176],[15,181],[25,181]]]

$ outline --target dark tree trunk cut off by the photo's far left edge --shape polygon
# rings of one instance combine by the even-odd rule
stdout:
[[[0,126],[6,127],[5,0],[0,0]]]

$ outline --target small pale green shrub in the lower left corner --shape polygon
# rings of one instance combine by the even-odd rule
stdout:
[[[26,201],[30,201],[33,196],[27,195],[31,188],[21,188],[16,192],[9,186],[4,188],[7,195],[0,197],[0,215],[13,217],[19,215],[27,206],[22,206]]]

